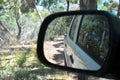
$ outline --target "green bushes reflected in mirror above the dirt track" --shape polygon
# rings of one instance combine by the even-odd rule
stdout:
[[[47,29],[46,32],[46,40],[53,40],[55,37],[60,35],[65,35],[67,32],[67,28],[70,25],[72,17],[59,17],[53,20]]]

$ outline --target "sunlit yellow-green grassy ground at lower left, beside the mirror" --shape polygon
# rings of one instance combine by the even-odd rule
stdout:
[[[37,59],[36,47],[16,48],[0,55],[0,80],[55,80],[67,76],[66,72],[48,68],[40,63]]]

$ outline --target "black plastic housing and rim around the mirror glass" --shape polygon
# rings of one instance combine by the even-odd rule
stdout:
[[[60,66],[56,64],[50,63],[45,55],[44,55],[44,39],[45,39],[45,32],[47,30],[48,25],[58,17],[62,16],[70,16],[70,15],[103,15],[106,16],[109,22],[109,51],[106,56],[105,62],[102,65],[102,67],[99,70],[92,71],[92,70],[82,70],[82,69],[73,69],[65,66]],[[52,14],[45,18],[43,21],[39,35],[38,35],[38,41],[37,41],[37,56],[38,59],[45,64],[46,66],[66,70],[66,71],[72,71],[72,72],[82,72],[86,74],[91,74],[94,76],[104,76],[107,73],[111,73],[110,69],[112,69],[115,65],[113,65],[114,58],[117,56],[116,50],[118,50],[118,45],[120,41],[120,20],[113,14],[106,12],[106,11],[94,11],[94,10],[88,10],[88,11],[70,11],[70,12],[60,12]],[[116,60],[115,60],[116,61]]]

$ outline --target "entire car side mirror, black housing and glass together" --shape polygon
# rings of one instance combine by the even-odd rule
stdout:
[[[120,20],[105,11],[71,11],[48,16],[37,41],[39,60],[51,67],[101,76],[110,72]],[[113,36],[114,35],[114,36]],[[117,35],[117,36],[115,36]],[[114,38],[114,39],[113,39]]]

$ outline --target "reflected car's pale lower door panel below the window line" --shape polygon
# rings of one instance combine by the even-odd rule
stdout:
[[[69,36],[67,36],[66,42],[67,42],[66,43],[67,48],[65,50],[66,52],[65,54],[67,54],[66,57],[69,58],[70,55],[72,55],[74,59],[74,63],[71,64],[71,67],[78,68],[78,69],[79,68],[88,69],[90,67],[90,70],[100,69],[100,65],[97,64],[92,58],[90,58],[78,45],[76,45],[76,43],[72,41]],[[71,60],[69,59],[68,61],[71,61]],[[84,61],[87,61],[87,62],[84,62]]]

